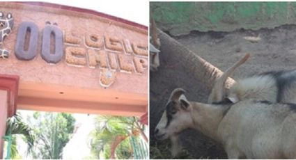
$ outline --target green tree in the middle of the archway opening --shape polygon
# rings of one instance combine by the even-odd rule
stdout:
[[[75,118],[68,113],[35,112],[29,118],[36,134],[33,159],[61,159],[63,147],[70,140],[75,128]]]

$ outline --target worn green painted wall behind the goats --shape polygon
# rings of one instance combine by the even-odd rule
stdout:
[[[296,24],[296,2],[150,2],[150,11],[172,35]]]

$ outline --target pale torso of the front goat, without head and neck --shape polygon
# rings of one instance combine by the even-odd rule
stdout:
[[[296,158],[296,105],[237,102],[218,133],[225,146],[237,147],[248,159]]]

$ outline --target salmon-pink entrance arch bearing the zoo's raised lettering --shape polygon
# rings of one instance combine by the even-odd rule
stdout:
[[[0,12],[1,137],[17,109],[147,113],[146,26],[52,3],[0,2]]]

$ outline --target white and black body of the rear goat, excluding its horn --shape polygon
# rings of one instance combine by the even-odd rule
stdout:
[[[265,72],[238,80],[228,97],[296,103],[296,70]]]

